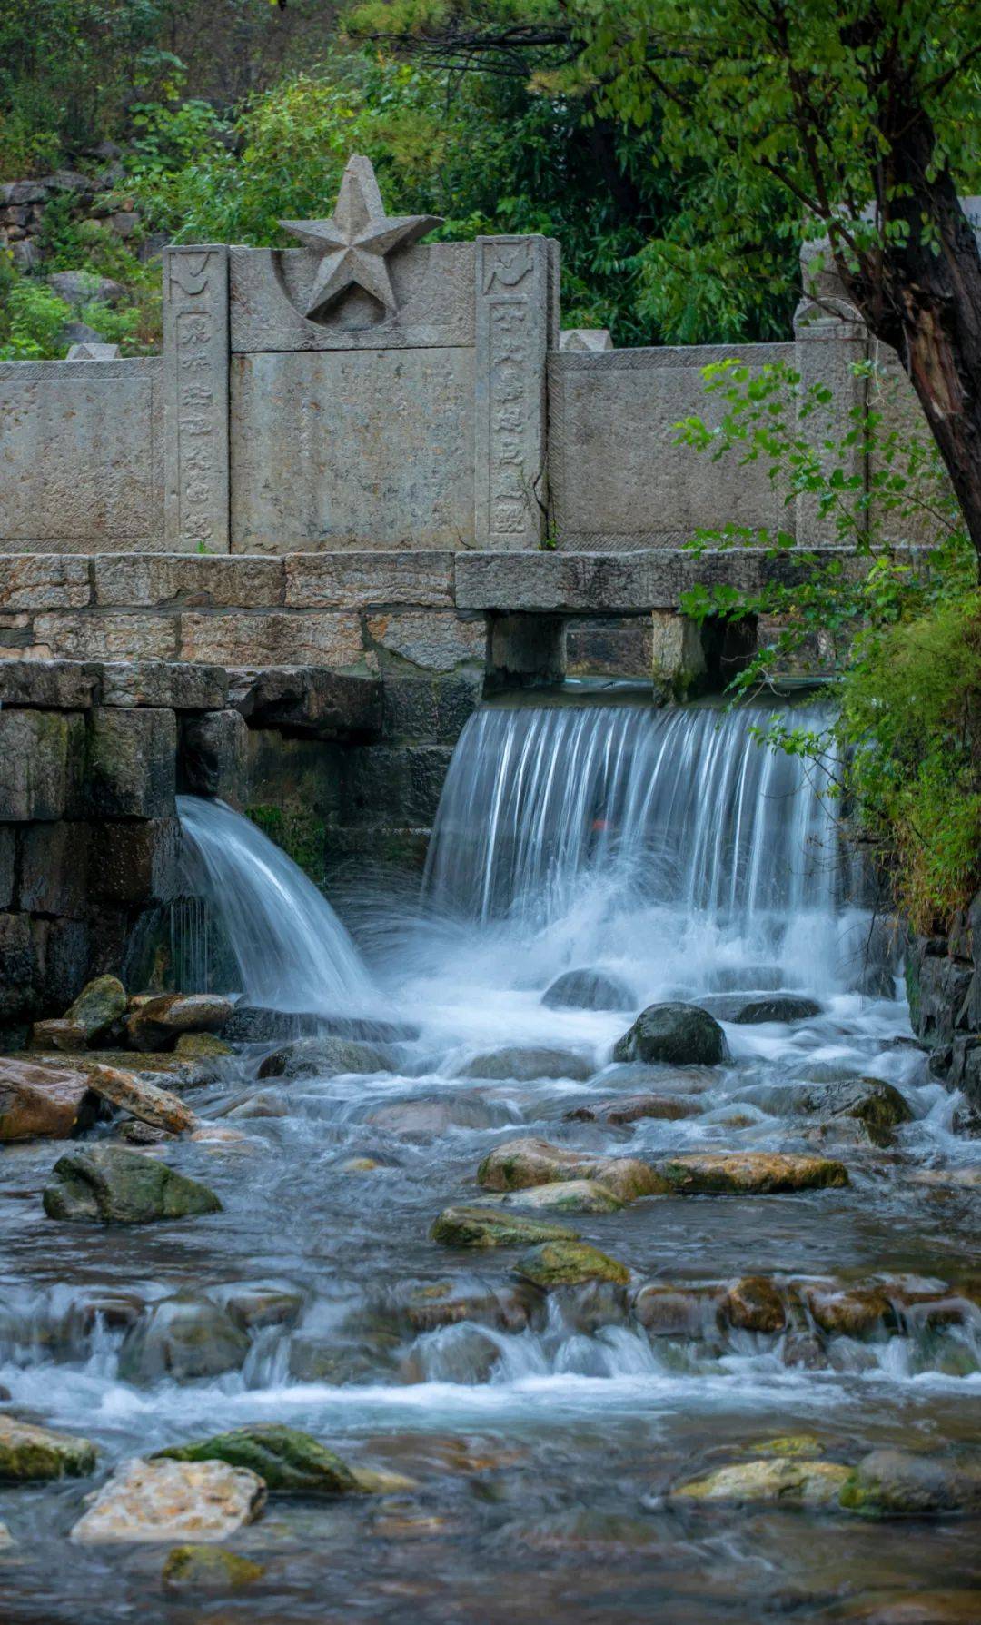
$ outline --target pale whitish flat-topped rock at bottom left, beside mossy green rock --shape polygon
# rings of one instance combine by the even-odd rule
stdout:
[[[128,1461],[75,1524],[73,1540],[224,1540],[258,1518],[266,1487],[224,1461]]]

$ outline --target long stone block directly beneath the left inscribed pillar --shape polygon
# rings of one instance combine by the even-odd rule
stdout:
[[[94,603],[125,609],[271,609],[283,603],[281,559],[106,554],[93,561],[93,572]]]

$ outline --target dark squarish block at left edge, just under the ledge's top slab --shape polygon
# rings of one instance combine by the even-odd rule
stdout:
[[[80,712],[0,710],[0,821],[58,819],[78,804]]]

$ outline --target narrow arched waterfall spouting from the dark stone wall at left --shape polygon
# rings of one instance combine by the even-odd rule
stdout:
[[[188,889],[206,905],[197,912],[223,931],[248,1004],[338,1014],[370,1003],[354,942],[292,858],[223,801],[177,796],[177,812]]]

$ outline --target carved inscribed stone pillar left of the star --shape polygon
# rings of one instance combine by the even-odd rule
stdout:
[[[229,551],[229,276],[221,244],[164,250],[169,552]]]

